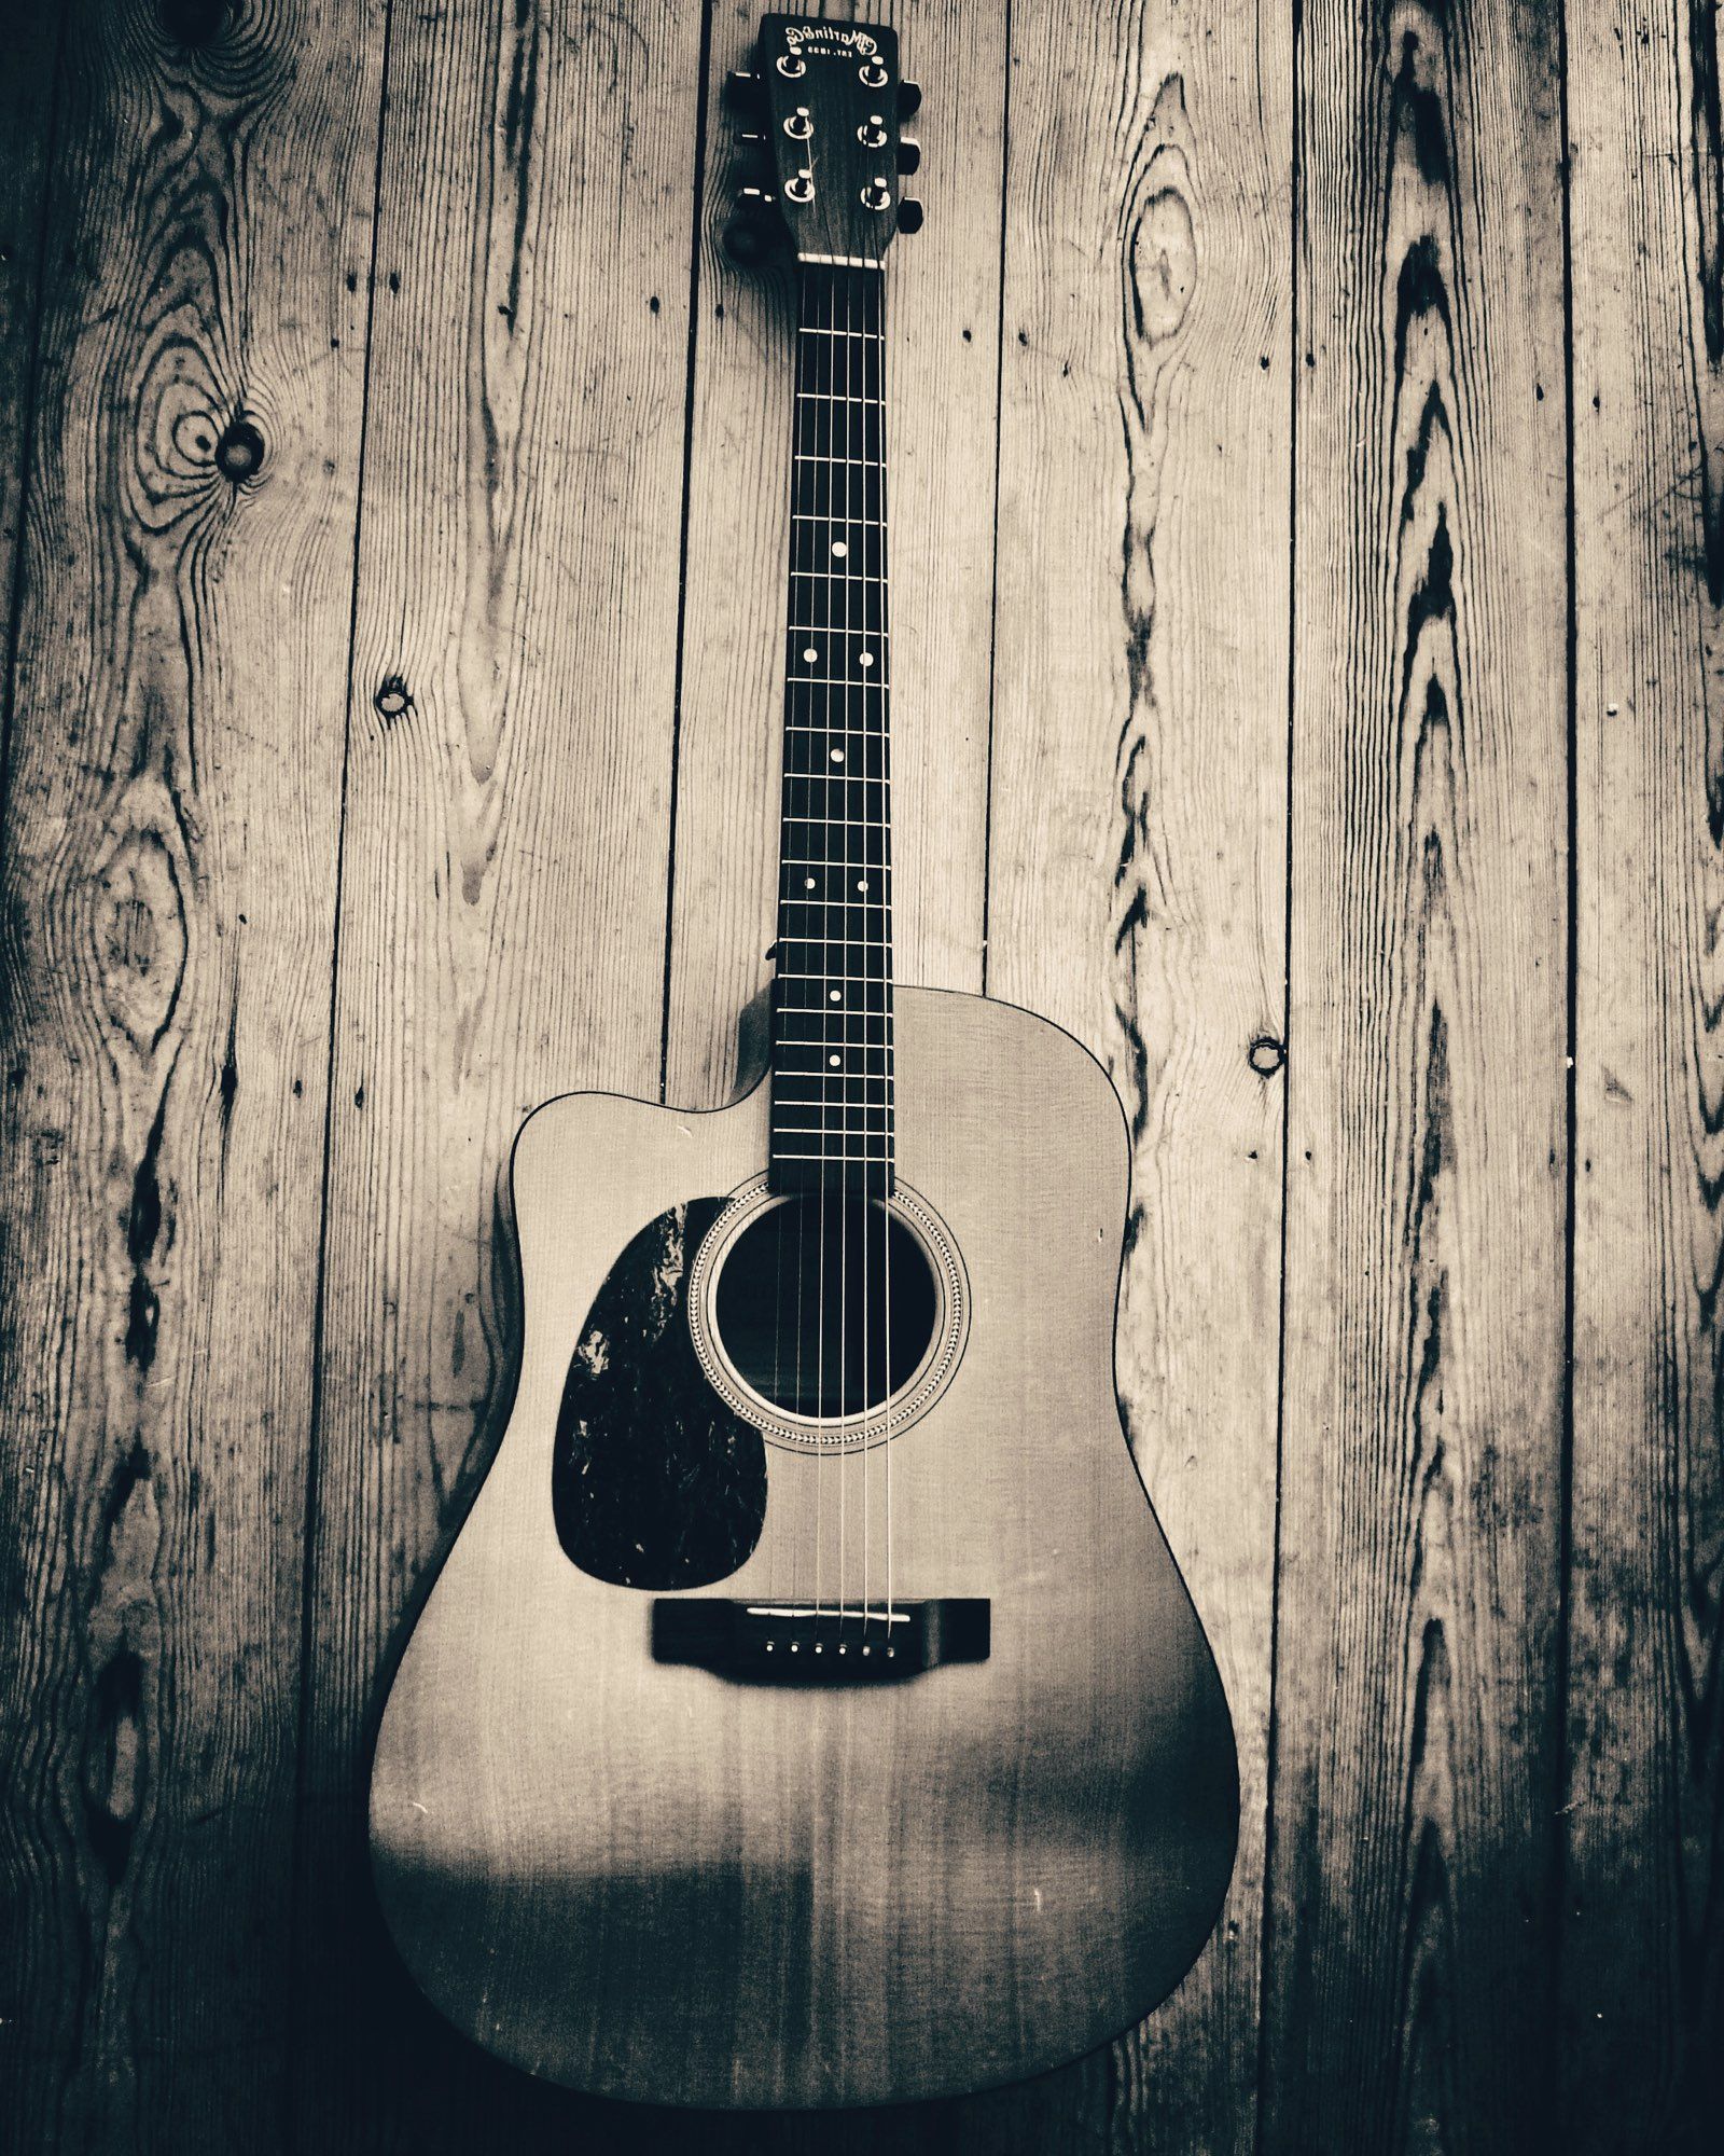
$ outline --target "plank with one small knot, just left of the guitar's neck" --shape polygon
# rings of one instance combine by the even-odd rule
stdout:
[[[509,1406],[509,1147],[552,1093],[659,1082],[698,63],[670,0],[390,24],[295,1973],[321,2147],[522,2145],[427,2016],[371,2046],[401,1975],[356,1925],[356,1792]]]

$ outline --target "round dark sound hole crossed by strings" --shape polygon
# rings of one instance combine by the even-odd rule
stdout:
[[[868,1414],[920,1369],[940,1289],[920,1238],[877,1199],[808,1192],[737,1235],[713,1283],[737,1376],[782,1414]]]

